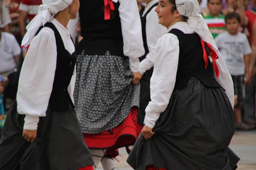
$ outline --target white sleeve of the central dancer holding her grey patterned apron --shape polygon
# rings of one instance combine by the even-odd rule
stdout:
[[[139,57],[145,54],[140,14],[136,0],[118,0],[121,19],[124,55],[129,57],[132,72],[139,71]]]

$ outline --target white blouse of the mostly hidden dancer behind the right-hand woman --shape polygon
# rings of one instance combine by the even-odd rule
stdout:
[[[158,0],[152,0],[145,6],[145,11],[143,12],[143,16],[148,11],[151,6],[155,3],[158,3]],[[158,24],[157,13],[154,11],[154,7],[146,16],[146,36],[147,36],[147,45],[148,45],[148,54],[146,58],[140,62],[139,71],[141,74],[144,74],[146,71],[150,70],[154,67],[154,51],[157,45],[157,41],[163,34],[167,33],[166,27]]]

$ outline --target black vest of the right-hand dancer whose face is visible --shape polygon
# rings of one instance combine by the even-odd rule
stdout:
[[[198,34],[184,34],[178,29],[169,31],[175,34],[179,40],[179,63],[177,69],[175,90],[184,88],[191,77],[196,77],[204,85],[209,87],[221,87],[214,78],[212,63],[208,58],[208,66],[205,68],[203,48]]]

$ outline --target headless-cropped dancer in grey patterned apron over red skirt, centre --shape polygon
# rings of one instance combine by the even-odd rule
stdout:
[[[79,17],[76,113],[95,167],[112,170],[114,150],[137,139],[140,15],[136,0],[80,0]],[[69,23],[73,35],[79,17]]]

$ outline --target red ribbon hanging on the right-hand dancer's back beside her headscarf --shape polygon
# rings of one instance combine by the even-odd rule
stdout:
[[[204,56],[204,66],[205,68],[207,68],[208,66],[208,56],[207,56],[207,53],[205,51],[205,42],[201,39],[201,44],[202,44],[202,47],[203,47],[203,56]],[[213,64],[213,68],[215,70],[215,73],[216,73],[216,76],[219,77],[220,76],[220,71],[218,69],[218,66],[217,66],[217,63],[216,63],[216,59],[218,59],[218,55],[216,54],[216,52],[212,49],[212,45],[210,45],[209,43],[207,43],[207,47],[209,48],[210,50],[210,55],[212,57],[212,64]]]

